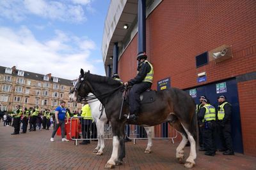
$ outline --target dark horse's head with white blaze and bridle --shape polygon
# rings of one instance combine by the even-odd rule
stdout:
[[[70,101],[81,102],[90,92],[92,92],[90,85],[86,81],[86,74],[90,74],[90,71],[84,74],[84,70],[81,69],[79,78],[77,79],[73,89],[70,90]]]

